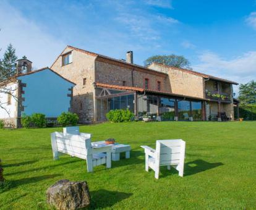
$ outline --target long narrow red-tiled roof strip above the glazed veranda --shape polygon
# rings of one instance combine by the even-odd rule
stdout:
[[[131,86],[109,85],[109,84],[98,83],[98,82],[95,82],[95,86],[98,88],[110,88],[110,89],[116,89],[116,90],[129,90],[129,91],[138,91],[138,92],[145,91],[147,93],[167,94],[169,96],[176,96],[179,98],[189,98],[189,99],[197,99],[200,101],[208,101],[208,99],[198,98],[193,96],[186,96],[184,94],[176,94],[176,93],[170,93],[166,91],[150,90],[150,89],[137,88],[137,87],[131,87]]]

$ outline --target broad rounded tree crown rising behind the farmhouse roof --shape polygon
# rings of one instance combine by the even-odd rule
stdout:
[[[187,60],[184,56],[176,56],[174,54],[171,54],[169,56],[156,55],[156,56],[148,57],[148,59],[144,61],[144,65],[148,66],[153,62],[156,62],[158,64],[169,65],[177,68],[182,68],[182,69],[191,69],[189,60]]]

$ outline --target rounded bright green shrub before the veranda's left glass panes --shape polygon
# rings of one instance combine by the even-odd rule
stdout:
[[[109,111],[106,118],[110,122],[130,122],[134,119],[134,113],[130,112],[129,109],[115,109]]]

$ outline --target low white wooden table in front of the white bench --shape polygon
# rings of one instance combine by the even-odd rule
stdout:
[[[106,145],[105,141],[92,142],[93,148],[98,148],[104,145]],[[112,149],[111,149],[112,161],[119,161],[120,153],[126,153],[126,159],[130,158],[130,145],[114,143],[114,145],[111,144],[111,146],[112,146]]]

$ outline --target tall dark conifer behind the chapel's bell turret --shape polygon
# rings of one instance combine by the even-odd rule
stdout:
[[[0,80],[5,80],[6,78],[15,75],[16,61],[17,56],[15,55],[15,48],[12,44],[9,44],[1,61]]]

